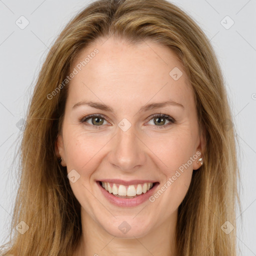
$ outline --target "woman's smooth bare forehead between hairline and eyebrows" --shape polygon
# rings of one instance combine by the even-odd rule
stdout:
[[[191,100],[181,61],[167,46],[155,42],[134,45],[112,37],[98,38],[80,52],[73,68],[77,74],[69,83],[68,103],[95,99],[110,104],[113,97],[120,104],[143,104],[150,99],[189,104]]]

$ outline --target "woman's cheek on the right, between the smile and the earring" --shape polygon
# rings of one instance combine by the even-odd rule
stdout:
[[[155,154],[164,163],[161,165],[164,180],[158,187],[159,202],[170,205],[169,210],[173,211],[183,200],[191,181],[193,162],[197,160],[194,140],[191,130],[184,126],[162,139],[158,137],[157,144]]]

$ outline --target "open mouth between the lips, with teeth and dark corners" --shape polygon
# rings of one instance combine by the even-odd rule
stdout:
[[[142,182],[130,184],[118,184],[98,180],[97,183],[104,188],[109,194],[119,198],[135,198],[146,194],[153,189],[159,182]]]

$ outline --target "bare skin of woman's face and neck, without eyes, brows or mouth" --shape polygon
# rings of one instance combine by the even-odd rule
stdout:
[[[196,151],[202,152],[205,142],[199,133],[192,87],[181,62],[166,46],[97,38],[80,52],[73,67],[94,48],[98,54],[70,81],[62,130],[56,140],[62,166],[80,175],[74,183],[69,180],[81,204],[82,222],[82,237],[73,256],[174,256],[177,208],[192,170],[198,169],[200,162],[194,160],[154,202],[146,200],[134,207],[111,204],[95,181],[152,179],[160,188]],[[174,67],[183,73],[178,80],[169,75]],[[183,107],[166,105],[138,112],[145,104],[169,99]],[[114,112],[87,105],[72,109],[83,100],[103,102]],[[92,119],[80,122],[94,113],[106,117],[99,129]],[[157,125],[152,115],[159,113],[174,118],[175,123],[163,118]],[[126,131],[118,126],[123,118],[131,123]],[[118,229],[123,221],[131,227],[125,234]]]

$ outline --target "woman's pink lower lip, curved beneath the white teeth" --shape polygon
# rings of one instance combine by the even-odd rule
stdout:
[[[154,184],[154,186],[150,190],[148,190],[146,193],[142,193],[134,198],[121,198],[121,197],[114,196],[112,193],[109,193],[108,191],[106,191],[105,188],[101,186],[99,181],[97,181],[97,184],[101,192],[103,193],[103,195],[106,197],[106,199],[112,204],[119,207],[132,207],[132,206],[137,206],[143,203],[154,193],[154,190],[159,185],[159,183]]]

